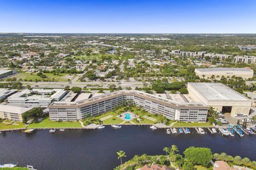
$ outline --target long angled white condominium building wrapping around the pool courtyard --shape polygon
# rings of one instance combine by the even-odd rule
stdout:
[[[76,102],[58,101],[48,108],[51,121],[76,121],[87,114],[102,114],[125,103],[182,122],[205,122],[207,116],[207,107],[203,103],[178,102],[137,90],[121,90]]]

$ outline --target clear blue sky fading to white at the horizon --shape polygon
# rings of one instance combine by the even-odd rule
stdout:
[[[0,0],[0,32],[256,33],[256,1]]]

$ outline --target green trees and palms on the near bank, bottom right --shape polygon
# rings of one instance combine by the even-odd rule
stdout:
[[[171,147],[163,148],[163,155],[135,155],[130,160],[122,162],[126,157],[124,151],[118,151],[118,159],[121,160],[121,165],[114,168],[114,170],[134,170],[139,169],[144,165],[151,166],[153,164],[166,165],[171,169],[182,169],[182,170],[211,170],[213,162],[217,160],[223,160],[229,164],[229,166],[237,165],[246,168],[256,169],[256,161],[250,160],[249,158],[242,158],[240,156],[230,156],[225,152],[221,154],[212,154],[210,148],[203,147],[189,147],[183,151],[182,155],[179,152],[177,146],[172,145]]]

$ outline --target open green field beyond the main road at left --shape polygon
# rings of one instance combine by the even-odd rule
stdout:
[[[43,73],[44,75],[46,75],[47,78],[45,78],[45,80],[50,80],[50,81],[68,81],[68,79],[73,79],[74,75],[69,75],[67,73],[60,73],[59,75],[53,75],[52,73]],[[17,75],[14,75],[11,78],[17,78],[17,80],[19,79],[27,79],[27,81],[35,81],[37,80],[41,80],[43,81],[43,79],[41,77],[39,77],[38,75],[36,75],[36,73],[19,73]]]

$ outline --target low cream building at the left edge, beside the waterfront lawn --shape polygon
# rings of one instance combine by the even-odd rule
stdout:
[[[0,105],[0,117],[11,121],[22,122],[22,114],[30,109],[27,107]]]

